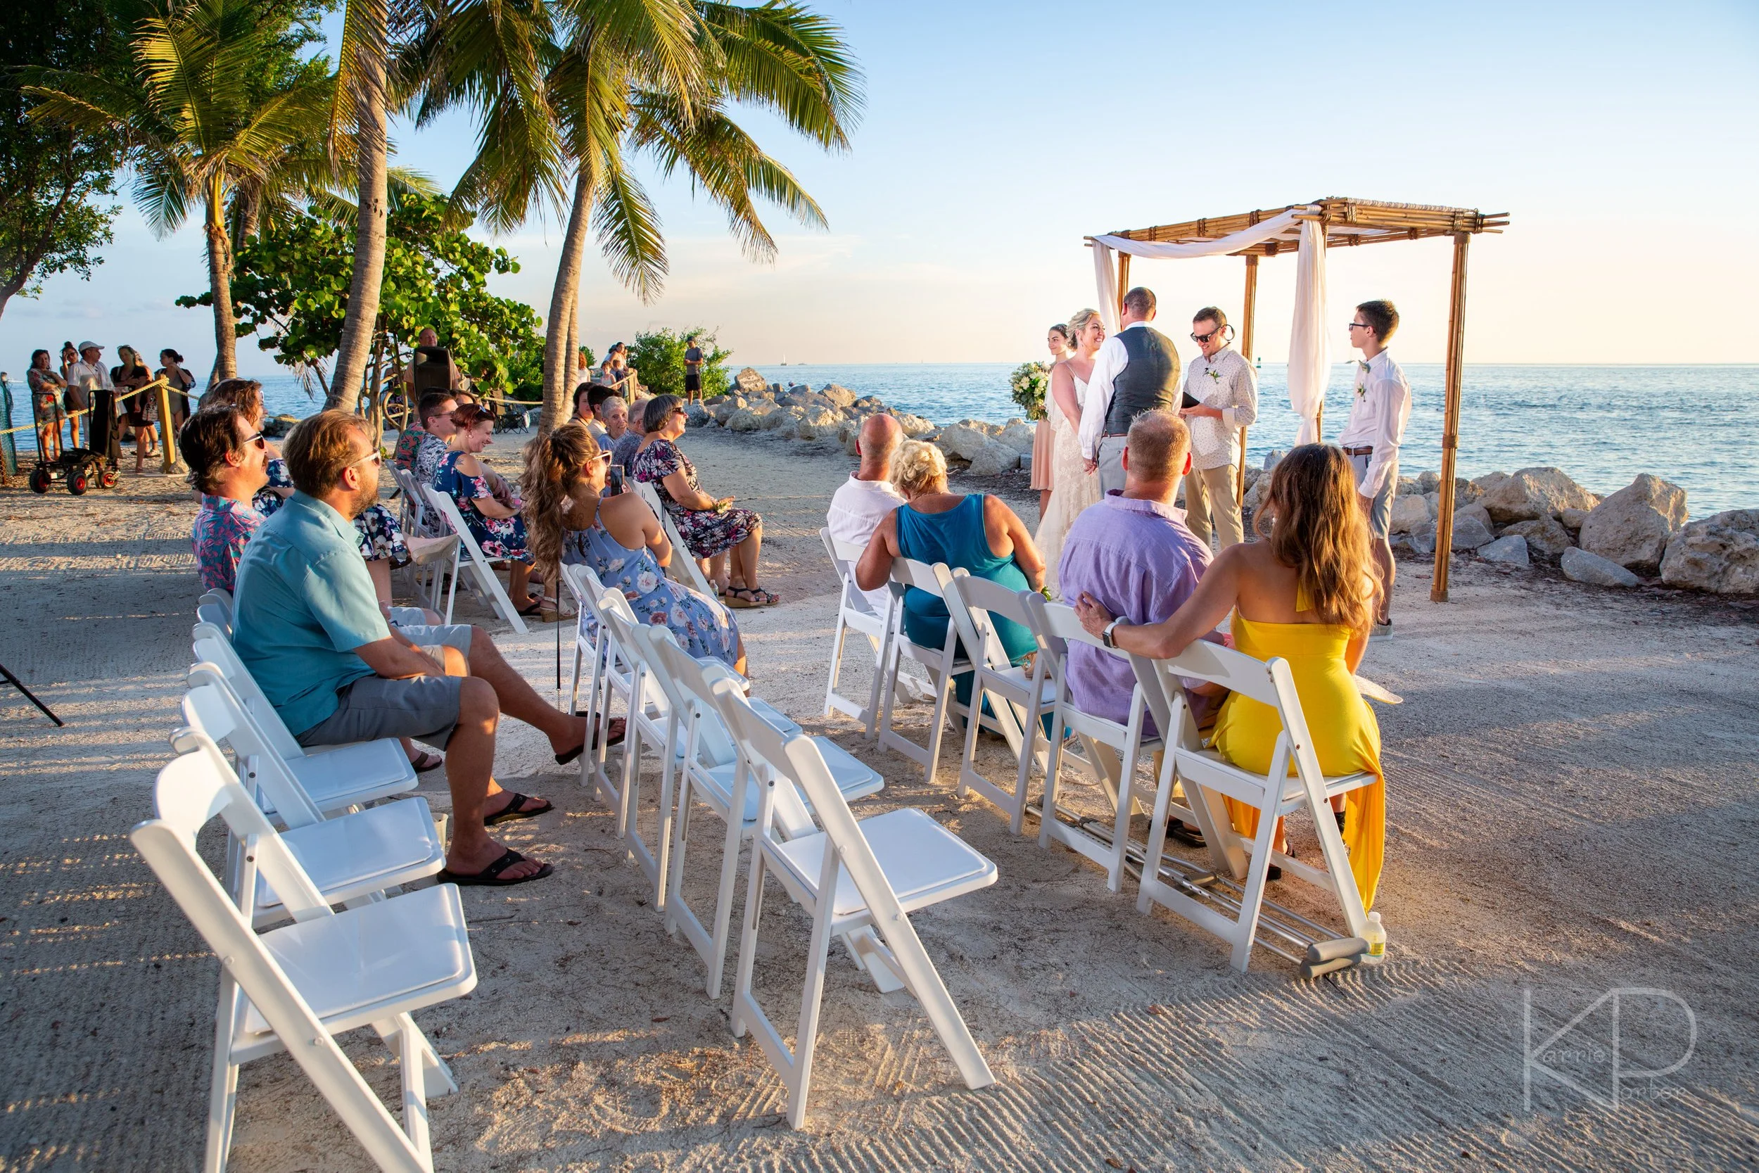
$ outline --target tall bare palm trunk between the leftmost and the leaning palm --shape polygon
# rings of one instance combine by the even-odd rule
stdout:
[[[350,0],[361,2],[361,0]],[[385,0],[366,0],[385,7]],[[380,12],[378,26],[383,26]],[[382,44],[355,47],[355,128],[359,169],[359,216],[354,234],[354,280],[348,285],[348,317],[341,324],[336,373],[325,408],[354,412],[373,353],[373,324],[378,322],[378,290],[385,274],[385,62]]]

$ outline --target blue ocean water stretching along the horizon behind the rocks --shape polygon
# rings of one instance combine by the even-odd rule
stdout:
[[[1013,364],[814,364],[760,366],[772,383],[841,383],[862,396],[938,424],[960,419],[1003,422],[1020,415],[1008,397]],[[1400,468],[1441,468],[1442,368],[1411,364],[1411,426]],[[292,375],[264,382],[271,412],[317,410]],[[1349,413],[1351,364],[1332,371],[1325,434],[1337,438]],[[30,422],[14,383],[14,422]],[[1288,368],[1259,369],[1259,422],[1247,433],[1247,459],[1288,448],[1296,419]],[[30,433],[18,434],[32,448]],[[1481,477],[1534,464],[1562,468],[1608,494],[1638,473],[1655,473],[1687,491],[1692,517],[1759,508],[1759,366],[1469,366],[1460,396],[1458,473]]]

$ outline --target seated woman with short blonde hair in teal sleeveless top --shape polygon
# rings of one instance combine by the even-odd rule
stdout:
[[[1038,556],[1025,524],[997,496],[948,492],[946,457],[932,443],[906,441],[892,468],[892,484],[906,503],[874,529],[867,552],[855,566],[855,586],[878,591],[892,577],[895,559],[913,557],[929,565],[946,563],[948,570],[964,568],[971,577],[989,579],[1010,591],[1043,589],[1045,559]],[[904,591],[904,635],[911,642],[941,647],[948,623],[941,598],[916,587]],[[1038,644],[1029,628],[994,614],[990,623],[1010,663],[1031,659]],[[971,700],[971,675],[955,677],[960,703]]]

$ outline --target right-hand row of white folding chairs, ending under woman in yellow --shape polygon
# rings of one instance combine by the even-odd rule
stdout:
[[[1120,892],[1129,865],[1140,863],[1136,907],[1150,913],[1156,904],[1223,937],[1230,960],[1240,973],[1251,964],[1254,944],[1270,948],[1303,967],[1305,974],[1326,973],[1367,950],[1367,911],[1349,871],[1349,853],[1330,800],[1376,783],[1369,772],[1328,777],[1319,770],[1307,733],[1307,719],[1282,659],[1259,661],[1228,647],[1198,642],[1175,659],[1147,659],[1108,649],[1082,628],[1071,607],[1050,603],[1036,591],[1010,591],[964,570],[895,559],[885,614],[874,612],[857,587],[853,568],[862,547],[837,542],[820,531],[843,591],[832,635],[825,714],[844,712],[864,723],[864,733],[923,769],[932,784],[950,718],[964,730],[957,793],[983,795],[1006,816],[1013,834],[1024,834],[1029,781],[1043,777],[1038,841],[1061,842],[1094,860],[1106,872],[1106,888]],[[904,631],[904,591],[915,587],[943,600],[950,616],[939,647],[913,642]],[[1036,656],[1031,668],[1008,661],[996,637],[994,619],[1006,619],[1033,631]],[[874,674],[865,703],[839,693],[848,637],[860,635],[874,649]],[[1068,684],[1071,645],[1128,663],[1135,677],[1126,719],[1085,712]],[[909,740],[895,725],[897,695],[904,661],[929,675],[934,707],[927,744]],[[973,675],[971,703],[960,705],[953,679]],[[1203,746],[1182,681],[1214,682],[1274,709],[1282,732],[1265,774],[1224,761]],[[1365,695],[1397,703],[1397,696],[1367,682]],[[985,703],[987,702],[987,703]],[[978,714],[973,719],[973,714]],[[1156,737],[1149,737],[1152,718]],[[1055,735],[1045,733],[1048,721]],[[1011,779],[990,779],[978,769],[978,733],[996,730],[1008,742],[1015,765]],[[1077,742],[1075,751],[1069,742]],[[1140,765],[1159,758],[1157,772]],[[1069,818],[1059,807],[1057,790],[1064,765],[1094,777],[1112,807],[1110,827],[1091,818]],[[1179,795],[1184,795],[1180,800]],[[1223,797],[1263,812],[1256,835],[1233,830]],[[1149,814],[1147,841],[1129,835],[1131,816]],[[1274,851],[1277,820],[1305,812],[1319,839],[1323,867]],[[1208,867],[1166,855],[1168,820],[1201,830]],[[1270,904],[1265,883],[1270,865],[1323,890],[1333,902],[1342,929],[1316,923]]]

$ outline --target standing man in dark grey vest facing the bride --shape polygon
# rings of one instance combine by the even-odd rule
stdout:
[[[1094,355],[1080,441],[1087,471],[1099,471],[1101,492],[1124,491],[1124,443],[1136,417],[1179,403],[1179,352],[1152,320],[1154,294],[1138,285],[1124,294],[1124,329]]]

